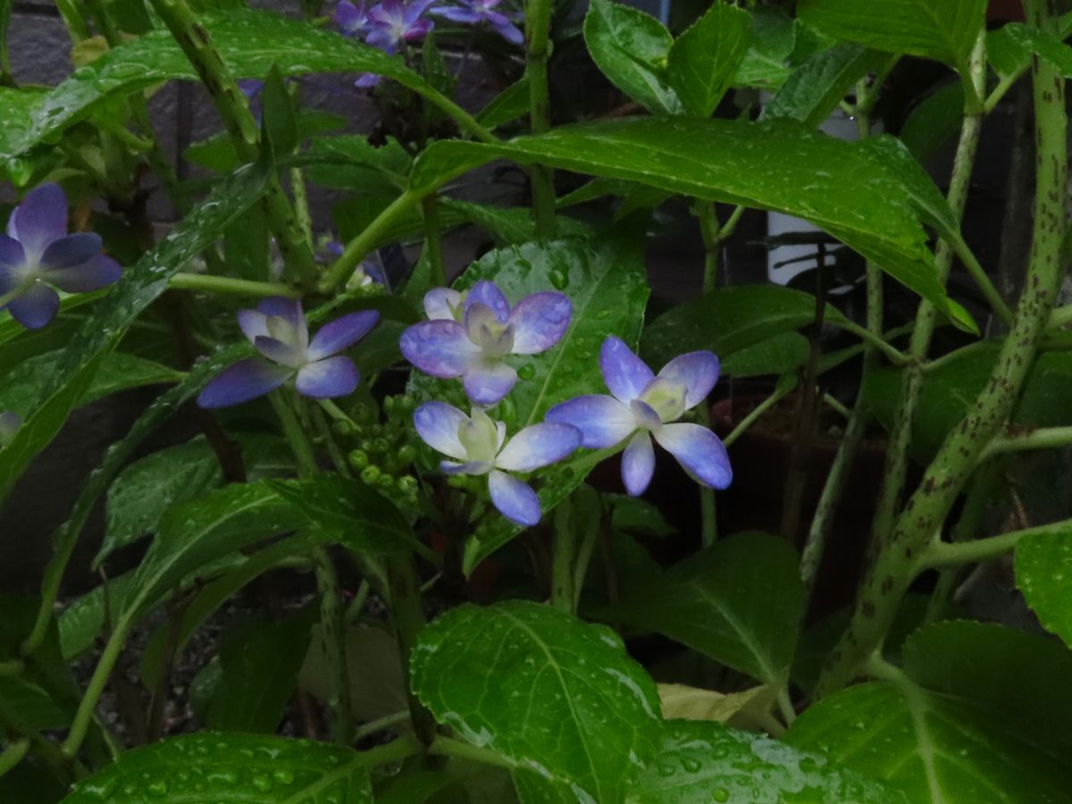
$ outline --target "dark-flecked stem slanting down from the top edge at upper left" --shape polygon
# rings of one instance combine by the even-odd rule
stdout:
[[[257,123],[208,31],[185,0],[151,0],[151,3],[200,76],[239,158],[255,162],[260,151]],[[263,204],[291,278],[301,284],[311,283],[316,277],[312,244],[306,239],[279,177],[273,175],[268,181]]]

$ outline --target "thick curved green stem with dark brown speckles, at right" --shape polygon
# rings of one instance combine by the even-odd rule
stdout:
[[[1025,2],[1028,23],[1051,30],[1045,6],[1045,0]],[[890,538],[880,545],[861,585],[849,629],[820,676],[819,697],[843,688],[868,657],[881,650],[919,555],[940,532],[986,445],[1008,420],[1045,332],[1064,276],[1061,244],[1067,232],[1068,116],[1060,73],[1041,59],[1034,60],[1032,73],[1038,149],[1031,258],[1012,329],[989,382],[946,438]]]

